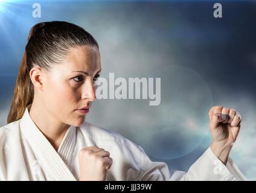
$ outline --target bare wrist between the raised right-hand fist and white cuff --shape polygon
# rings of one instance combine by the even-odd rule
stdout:
[[[228,162],[228,156],[231,151],[232,145],[222,144],[221,142],[215,142],[210,146],[211,151],[219,158],[224,165]]]

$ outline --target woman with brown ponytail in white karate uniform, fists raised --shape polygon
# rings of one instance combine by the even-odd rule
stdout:
[[[245,180],[228,157],[240,130],[234,109],[211,108],[213,144],[187,173],[170,172],[120,134],[85,122],[100,71],[98,43],[83,28],[31,28],[0,128],[1,180]]]

